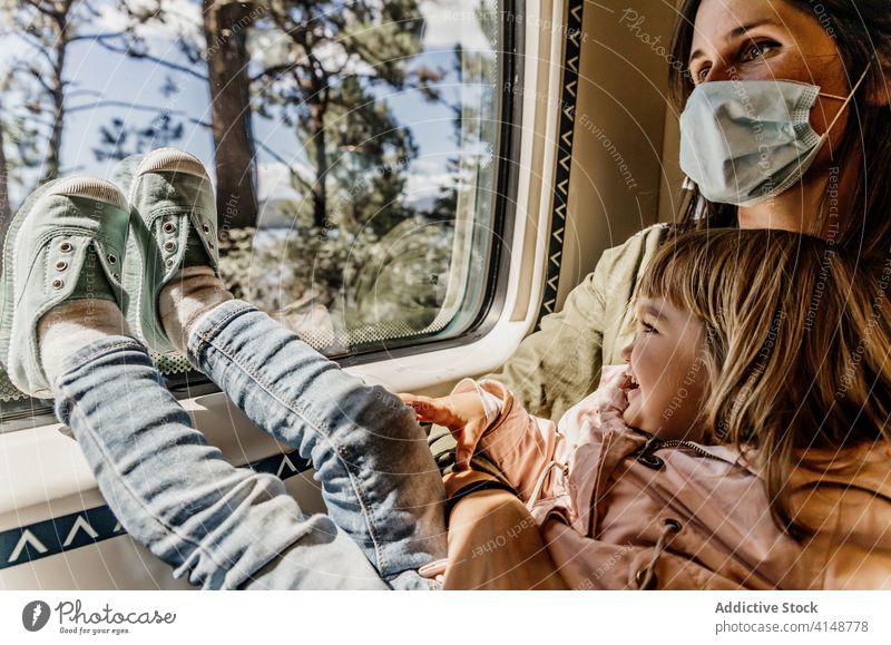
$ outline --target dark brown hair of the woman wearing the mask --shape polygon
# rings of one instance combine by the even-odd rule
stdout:
[[[889,106],[869,105],[865,97],[888,91],[884,70],[891,66],[891,3],[888,0],[821,0],[817,14],[816,4],[810,0],[783,1],[832,30],[849,85],[853,86],[869,67],[866,78],[850,104],[852,118],[848,119],[834,153],[841,164],[846,164],[845,170],[855,174],[851,209],[841,218],[834,242],[859,248],[862,254],[887,253],[891,247],[891,111]],[[683,67],[677,65],[669,69],[669,86],[678,110],[694,89],[686,61],[699,4],[701,0],[684,1],[672,46],[672,60],[683,62]],[[687,193],[678,221],[681,229],[737,225],[736,206],[708,202],[698,187]],[[805,233],[819,235],[825,229],[829,217],[825,199],[828,197],[813,222],[814,228]]]

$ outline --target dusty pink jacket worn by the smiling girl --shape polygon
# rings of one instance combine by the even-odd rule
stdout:
[[[624,370],[605,367],[598,390],[557,426],[498,381],[479,383],[502,405],[478,451],[527,500],[569,586],[891,589],[890,444],[851,449],[823,472],[795,470],[795,508],[823,527],[800,544],[775,526],[762,480],[734,448],[665,443],[626,426]],[[464,379],[452,393],[474,387]]]

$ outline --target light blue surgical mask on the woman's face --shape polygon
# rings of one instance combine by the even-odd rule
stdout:
[[[709,202],[766,202],[801,180],[865,77],[846,97],[790,80],[704,82],[681,115],[681,168]],[[819,96],[844,101],[822,135],[809,123]]]

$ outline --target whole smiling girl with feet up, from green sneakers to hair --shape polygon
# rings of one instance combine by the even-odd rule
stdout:
[[[226,292],[197,159],[156,150],[118,182],[57,180],[16,215],[0,359],[23,391],[51,391],[124,528],[205,588],[435,587],[450,507],[412,410]],[[642,282],[627,372],[605,371],[559,428],[496,382],[404,395],[459,434],[463,461],[495,460],[537,520],[496,549],[453,540],[447,586],[542,559],[551,587],[891,586],[891,274],[872,270],[795,234],[678,237]],[[177,348],[311,459],[329,515],[224,460],[134,335]],[[482,495],[458,491],[453,515],[488,512],[468,500]],[[547,558],[527,558],[530,527]]]

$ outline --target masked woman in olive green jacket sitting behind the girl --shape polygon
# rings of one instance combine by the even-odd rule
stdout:
[[[621,362],[621,348],[634,335],[631,292],[656,250],[676,232],[783,228],[874,256],[891,248],[891,2],[687,0],[673,56],[689,63],[685,71],[670,69],[679,110],[694,89],[715,81],[799,81],[832,95],[819,97],[810,113],[813,130],[828,133],[828,140],[801,180],[766,202],[738,206],[709,199],[703,188],[714,188],[715,182],[704,176],[709,186],[694,184],[676,224],[650,226],[608,250],[594,273],[570,292],[562,311],[544,317],[541,330],[486,377],[505,383],[538,417],[556,421],[595,390],[603,365]],[[855,86],[845,105],[840,99]],[[691,138],[694,134],[682,118],[682,148],[693,157],[684,168],[687,174],[705,175],[709,162],[721,167],[725,159],[699,147],[702,141]],[[761,134],[770,143],[767,135]],[[757,136],[753,128],[751,137]],[[755,141],[755,149],[760,145]],[[744,168],[735,166],[723,190],[712,190],[717,198],[743,201],[743,195],[733,195],[745,188]],[[767,174],[773,170],[779,168]]]

